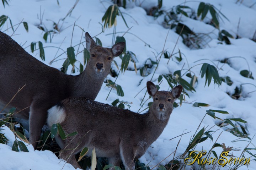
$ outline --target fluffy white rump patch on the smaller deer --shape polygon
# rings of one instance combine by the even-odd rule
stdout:
[[[60,106],[53,106],[48,110],[47,124],[52,126],[53,124],[62,123],[65,120],[66,114],[63,108]]]

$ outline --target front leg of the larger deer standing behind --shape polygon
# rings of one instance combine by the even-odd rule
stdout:
[[[46,123],[47,118],[47,109],[48,107],[38,107],[34,103],[31,104],[30,108],[30,118],[29,118],[29,133],[30,133],[30,143],[34,147],[37,148],[37,144],[40,139],[41,131],[43,125]]]

